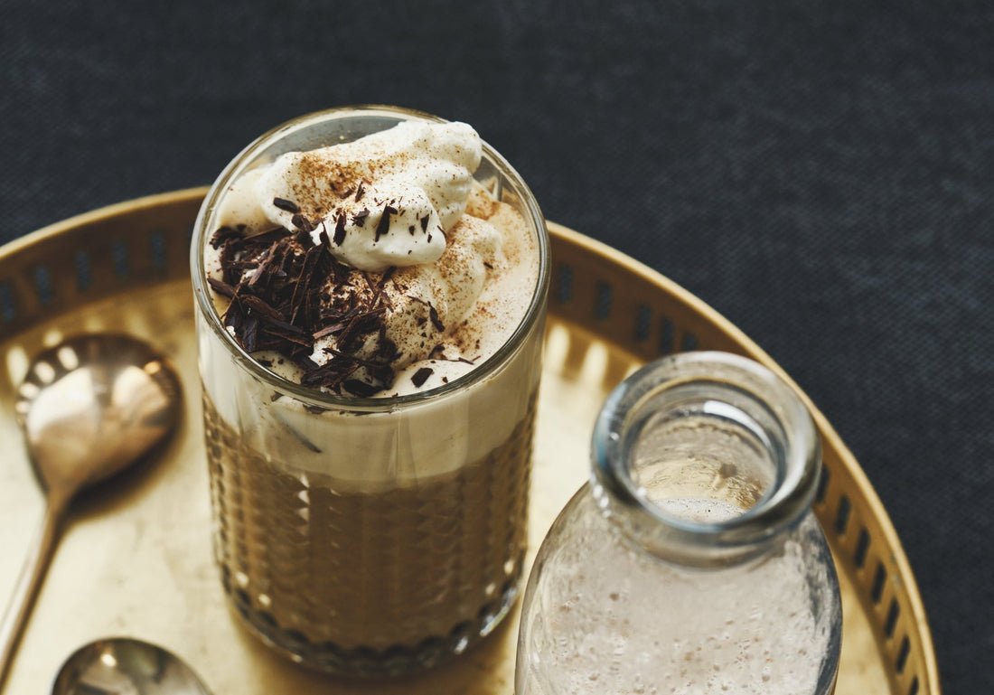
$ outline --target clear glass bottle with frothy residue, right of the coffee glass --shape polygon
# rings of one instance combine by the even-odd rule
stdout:
[[[833,691],[820,444],[789,386],[736,355],[664,358],[608,397],[591,464],[529,579],[517,695]]]

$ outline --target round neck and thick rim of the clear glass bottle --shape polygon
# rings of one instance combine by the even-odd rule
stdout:
[[[642,368],[608,397],[591,449],[601,511],[648,552],[696,567],[762,554],[807,512],[814,425],[765,367],[691,352]]]

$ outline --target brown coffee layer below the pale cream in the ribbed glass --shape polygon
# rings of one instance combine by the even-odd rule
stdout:
[[[229,591],[277,643],[285,632],[346,650],[414,647],[478,631],[517,592],[531,410],[484,458],[378,494],[285,473],[210,401],[205,411],[215,552]]]

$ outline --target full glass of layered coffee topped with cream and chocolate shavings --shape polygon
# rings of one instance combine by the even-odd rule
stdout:
[[[193,243],[222,581],[294,660],[382,674],[517,596],[548,285],[541,213],[464,123],[305,116]]]

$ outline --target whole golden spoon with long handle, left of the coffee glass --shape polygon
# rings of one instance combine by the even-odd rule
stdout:
[[[18,422],[45,487],[45,516],[0,622],[0,686],[73,498],[170,434],[180,383],[164,358],[124,335],[92,334],[40,354],[18,390]]]

